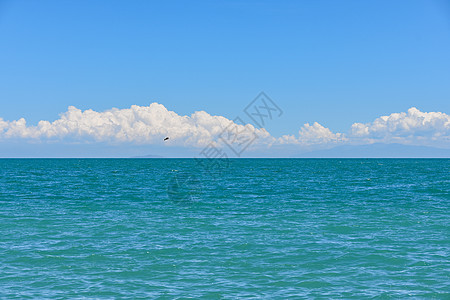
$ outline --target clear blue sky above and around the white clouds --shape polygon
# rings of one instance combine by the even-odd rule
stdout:
[[[447,1],[0,0],[0,118],[32,126],[69,106],[104,112],[157,102],[180,116],[232,120],[265,91],[284,112],[266,126],[274,138],[298,138],[314,122],[348,135],[354,123],[416,107],[445,116],[413,134],[431,132],[438,141],[425,145],[447,147],[439,137],[449,133],[449,53]],[[186,139],[167,151],[199,147]],[[102,149],[134,145],[100,141]],[[0,134],[0,155],[38,142],[72,141]]]

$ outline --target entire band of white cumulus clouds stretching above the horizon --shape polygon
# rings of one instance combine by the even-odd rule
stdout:
[[[376,142],[450,148],[450,116],[442,112],[421,112],[415,107],[407,112],[380,116],[373,122],[354,123],[347,133],[333,133],[314,122],[301,126],[298,135],[273,137],[264,128],[256,128],[252,124],[236,124],[228,118],[213,116],[205,111],[181,116],[159,103],[133,105],[127,109],[113,108],[104,112],[82,111],[70,106],[54,122],[43,120],[36,126],[28,126],[24,118],[15,121],[0,118],[0,142],[19,139],[161,145],[162,139],[170,136],[170,143],[165,145],[204,147],[218,142],[220,134],[230,125],[242,134],[258,137],[250,149],[273,145],[301,148]]]

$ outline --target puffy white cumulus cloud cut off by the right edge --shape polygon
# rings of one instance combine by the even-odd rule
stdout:
[[[372,123],[354,123],[350,136],[354,140],[382,142],[445,142],[450,138],[450,116],[412,107],[406,113],[382,116]]]

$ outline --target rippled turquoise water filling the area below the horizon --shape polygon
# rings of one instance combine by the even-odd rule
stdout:
[[[449,171],[448,159],[3,159],[0,298],[449,299]]]

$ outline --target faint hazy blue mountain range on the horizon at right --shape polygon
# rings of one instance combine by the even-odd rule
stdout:
[[[299,154],[311,158],[450,158],[450,149],[402,144],[344,145]]]

